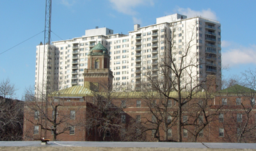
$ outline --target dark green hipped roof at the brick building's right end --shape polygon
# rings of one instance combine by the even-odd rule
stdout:
[[[228,87],[227,89],[220,90],[218,92],[219,93],[239,93],[239,94],[241,94],[241,93],[255,93],[256,90],[236,84],[231,87]]]

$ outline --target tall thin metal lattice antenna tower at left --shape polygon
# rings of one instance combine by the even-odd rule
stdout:
[[[45,25],[44,25],[44,65],[43,65],[43,82],[42,82],[42,108],[41,108],[41,124],[44,116],[44,138],[47,138],[47,108],[48,108],[48,93],[49,89],[49,72],[51,69],[51,11],[52,11],[52,0],[46,0],[45,3]],[[45,103],[44,103],[45,101]],[[45,115],[43,115],[43,105],[45,104]],[[40,137],[42,138],[42,127]]]

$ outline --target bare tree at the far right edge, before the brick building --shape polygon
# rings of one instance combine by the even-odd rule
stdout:
[[[233,111],[225,112],[226,121],[223,127],[227,132],[227,141],[248,143],[255,142],[255,95],[256,95],[256,71],[252,69],[234,76],[228,80],[227,96],[234,105]],[[225,91],[225,90],[224,90]]]

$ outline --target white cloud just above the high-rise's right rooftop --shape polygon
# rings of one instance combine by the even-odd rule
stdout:
[[[180,13],[182,15],[186,15],[188,18],[201,16],[201,17],[217,20],[216,13],[212,11],[210,8],[208,8],[207,10],[195,11],[195,10],[191,10],[191,8],[178,7],[175,9],[175,11],[177,11],[177,13]]]

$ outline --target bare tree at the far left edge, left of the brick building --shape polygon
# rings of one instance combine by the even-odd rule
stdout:
[[[0,140],[22,140],[23,102],[10,99],[15,94],[15,85],[9,78],[0,83]],[[3,95],[3,97],[1,96]]]

